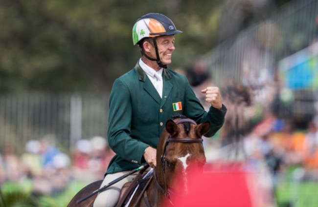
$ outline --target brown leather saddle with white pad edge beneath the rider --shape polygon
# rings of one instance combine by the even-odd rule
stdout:
[[[119,200],[116,207],[125,207],[128,205],[132,207],[138,207],[142,196],[145,197],[145,202],[148,203],[147,206],[150,206],[145,191],[152,178],[153,169],[149,171],[145,171],[145,169],[139,171],[133,181],[125,183],[124,186],[121,188]],[[134,199],[134,202],[131,203],[133,197],[137,199]]]

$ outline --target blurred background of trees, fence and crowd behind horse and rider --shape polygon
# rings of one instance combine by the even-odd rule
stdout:
[[[203,104],[221,89],[208,164],[268,176],[270,206],[317,207],[317,0],[0,0],[0,207],[67,206],[103,178],[109,93],[151,12],[183,31],[169,68]]]

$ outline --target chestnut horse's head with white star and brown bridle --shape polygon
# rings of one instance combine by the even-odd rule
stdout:
[[[187,178],[203,171],[206,162],[202,136],[210,124],[197,124],[184,116],[168,120],[157,145],[155,176],[159,196],[185,195]],[[171,200],[170,200],[171,202]]]

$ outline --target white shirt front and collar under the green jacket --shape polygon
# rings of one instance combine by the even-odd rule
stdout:
[[[144,62],[142,62],[141,59],[139,59],[139,65],[142,68],[143,71],[147,74],[149,80],[151,83],[155,86],[156,90],[159,93],[159,96],[162,98],[162,68],[160,70],[156,71],[154,68],[149,67]]]

